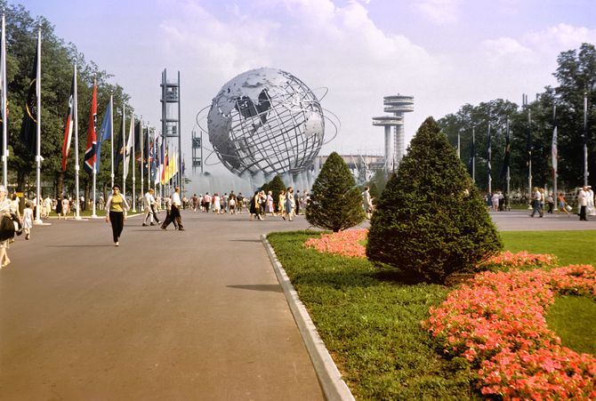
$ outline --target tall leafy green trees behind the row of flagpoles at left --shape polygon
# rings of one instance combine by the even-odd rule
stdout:
[[[20,124],[23,116],[23,105],[30,83],[30,72],[36,54],[37,28],[42,29],[42,79],[41,79],[41,116],[42,139],[41,155],[42,184],[53,188],[53,195],[66,191],[74,195],[75,151],[74,140],[68,158],[66,172],[61,172],[61,147],[64,136],[65,116],[68,108],[70,84],[73,76],[73,65],[77,60],[77,105],[79,132],[79,179],[81,189],[90,186],[91,177],[83,172],[86,132],[88,132],[88,113],[93,91],[93,79],[98,84],[98,125],[105,113],[110,93],[114,95],[115,108],[127,103],[129,96],[119,85],[109,84],[109,73],[101,70],[95,63],[86,62],[85,56],[77,51],[74,44],[66,44],[55,35],[50,21],[44,17],[31,17],[20,4],[10,5],[0,1],[6,12],[6,72],[7,96],[10,110],[7,146],[9,148],[8,175],[9,181],[17,182],[19,189],[33,189],[36,180],[35,155],[31,155],[20,143]],[[127,109],[130,108],[126,105]],[[115,116],[115,121],[117,117]],[[99,127],[98,127],[99,128]],[[98,188],[109,185],[109,143],[104,143],[101,154],[101,172],[98,175]]]

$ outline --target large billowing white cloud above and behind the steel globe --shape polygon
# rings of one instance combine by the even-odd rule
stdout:
[[[432,85],[442,68],[422,46],[406,36],[387,35],[370,19],[366,6],[352,1],[336,7],[330,1],[279,0],[268,11],[243,3],[225,16],[189,4],[179,17],[160,25],[164,47],[201,68],[192,92],[203,104],[233,76],[246,69],[277,67],[298,76],[312,88],[329,88],[323,107],[342,121],[342,132],[329,147],[378,150],[383,134],[371,118],[383,114],[383,96],[410,94],[416,83]],[[280,16],[279,13],[282,13]],[[283,20],[284,23],[278,22]],[[413,93],[412,93],[413,94]],[[373,134],[373,137],[369,135]]]

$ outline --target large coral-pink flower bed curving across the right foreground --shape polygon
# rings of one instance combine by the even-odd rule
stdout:
[[[596,358],[560,345],[545,309],[555,293],[596,298],[596,269],[484,272],[423,322],[445,352],[475,366],[479,388],[504,399],[596,399]]]

